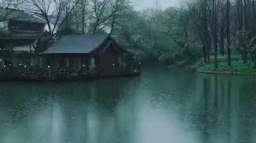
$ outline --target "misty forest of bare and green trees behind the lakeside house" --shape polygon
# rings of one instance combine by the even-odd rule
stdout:
[[[110,33],[147,60],[171,63],[204,57],[209,63],[209,55],[222,54],[231,62],[230,54],[254,46],[254,0],[194,0],[144,11],[136,11],[129,0],[18,2],[2,0],[0,6],[40,15],[58,35]]]

